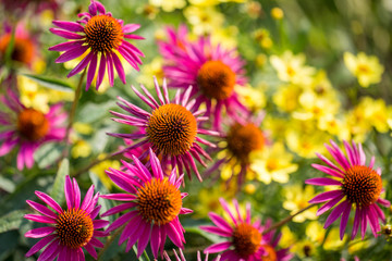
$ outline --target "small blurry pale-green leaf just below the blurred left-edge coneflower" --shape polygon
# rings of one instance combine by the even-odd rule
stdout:
[[[64,145],[54,142],[46,144],[37,149],[34,153],[34,159],[40,169],[46,169],[60,159],[63,150]]]

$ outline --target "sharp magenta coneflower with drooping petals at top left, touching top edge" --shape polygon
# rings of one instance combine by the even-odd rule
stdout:
[[[60,28],[50,28],[50,32],[72,40],[49,48],[51,51],[64,51],[56,62],[63,63],[84,57],[68,77],[82,72],[88,65],[86,89],[91,85],[97,70],[96,88],[98,89],[102,83],[106,71],[110,86],[113,86],[113,66],[120,79],[125,84],[125,73],[119,57],[124,58],[138,70],[138,64],[142,64],[139,57],[144,54],[125,39],[144,39],[131,34],[140,25],[124,25],[123,21],[114,18],[106,11],[103,4],[95,0],[91,0],[88,12],[81,13],[78,16],[82,18],[77,22],[53,21],[53,25]]]

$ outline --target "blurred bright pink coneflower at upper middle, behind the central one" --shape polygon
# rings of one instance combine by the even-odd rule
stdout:
[[[160,41],[159,49],[167,64],[163,74],[170,78],[170,86],[188,89],[195,97],[195,108],[201,103],[207,107],[207,115],[213,117],[213,128],[219,129],[222,109],[233,119],[248,114],[238,101],[235,85],[243,86],[244,61],[236,50],[224,50],[220,45],[212,46],[209,37],[200,37],[196,42],[186,40],[187,29],[182,26],[176,34],[168,28],[169,39]]]

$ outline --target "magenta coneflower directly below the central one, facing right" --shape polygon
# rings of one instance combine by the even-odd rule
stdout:
[[[175,169],[169,176],[163,175],[157,156],[149,150],[151,171],[133,157],[135,165],[122,161],[126,172],[109,169],[108,176],[126,194],[102,195],[101,198],[125,201],[102,214],[112,215],[128,210],[109,227],[112,232],[124,225],[119,244],[126,243],[126,251],[137,241],[137,258],[150,241],[155,258],[158,251],[163,253],[167,236],[175,246],[183,248],[184,228],[179,215],[191,213],[192,210],[182,207],[186,194],[180,191],[183,175],[176,177]]]

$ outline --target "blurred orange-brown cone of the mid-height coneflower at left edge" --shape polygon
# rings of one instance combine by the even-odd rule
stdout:
[[[44,138],[49,132],[49,121],[44,113],[34,109],[25,109],[17,115],[17,130],[29,141]]]

